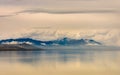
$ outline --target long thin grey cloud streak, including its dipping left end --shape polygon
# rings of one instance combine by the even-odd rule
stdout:
[[[14,12],[9,15],[0,15],[0,17],[12,17],[23,13],[36,14],[36,13],[48,13],[48,14],[90,14],[90,13],[117,13],[116,10],[51,10],[51,9],[26,9],[19,12]]]

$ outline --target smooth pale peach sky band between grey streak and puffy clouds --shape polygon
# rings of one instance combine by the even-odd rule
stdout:
[[[119,29],[119,14],[47,14],[22,13],[0,18],[1,31],[49,27],[51,29]]]

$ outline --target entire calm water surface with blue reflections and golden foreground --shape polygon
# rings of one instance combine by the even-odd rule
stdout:
[[[119,50],[0,52],[0,75],[120,75]]]

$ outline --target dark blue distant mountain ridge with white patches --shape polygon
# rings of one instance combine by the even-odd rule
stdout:
[[[17,39],[5,39],[0,40],[0,44],[6,44],[11,42],[17,42],[19,43],[31,43],[33,45],[37,46],[69,46],[69,45],[102,45],[100,42],[97,42],[92,39],[71,39],[71,38],[62,38],[57,40],[50,40],[50,41],[41,41],[41,40],[35,40],[31,38],[17,38]]]

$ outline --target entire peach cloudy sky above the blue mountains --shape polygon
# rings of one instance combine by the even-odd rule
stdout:
[[[0,0],[0,39],[96,34],[120,44],[119,20],[120,0]]]

